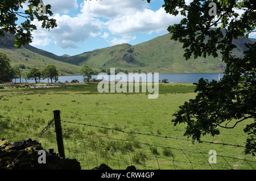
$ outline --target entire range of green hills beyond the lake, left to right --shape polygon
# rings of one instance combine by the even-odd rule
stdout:
[[[108,72],[110,68],[125,73],[221,73],[226,68],[221,57],[199,57],[186,61],[183,57],[182,44],[171,40],[170,33],[137,45],[119,44],[76,56],[57,56],[31,45],[17,49],[14,48],[13,38],[14,36],[10,34],[0,37],[0,51],[6,53],[13,60],[13,64],[22,64],[26,69],[44,68],[47,64],[53,64],[63,75],[79,74],[79,68],[83,64],[88,64],[98,73]],[[245,43],[255,41],[256,39],[246,38],[234,40],[237,48],[233,53],[236,56],[243,56]]]

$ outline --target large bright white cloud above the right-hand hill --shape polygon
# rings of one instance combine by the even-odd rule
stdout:
[[[134,33],[167,33],[170,24],[179,23],[181,16],[171,16],[160,7],[157,11],[148,9],[147,1],[84,1],[82,14],[101,18],[106,29],[123,40]],[[116,39],[118,40],[118,39]]]

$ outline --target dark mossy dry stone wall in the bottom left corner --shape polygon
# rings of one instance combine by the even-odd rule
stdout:
[[[81,170],[76,159],[60,158],[46,150],[46,163],[39,163],[39,150],[43,150],[42,145],[31,138],[0,141],[0,170]]]

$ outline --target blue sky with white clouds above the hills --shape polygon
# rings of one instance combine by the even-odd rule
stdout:
[[[186,0],[187,3],[189,0]],[[56,28],[45,30],[34,21],[32,46],[58,56],[74,56],[94,49],[143,43],[168,33],[180,23],[163,9],[163,0],[43,0],[52,6]],[[255,35],[256,37],[256,35]]]

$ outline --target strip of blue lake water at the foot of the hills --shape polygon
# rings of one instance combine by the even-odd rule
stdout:
[[[147,75],[147,74],[146,74]],[[195,74],[159,74],[159,81],[162,81],[162,79],[167,79],[168,82],[183,82],[183,83],[195,83],[198,82],[200,78],[208,79],[209,81],[216,80],[218,81],[219,77],[223,77],[223,73],[195,73]],[[114,78],[114,75],[108,75],[108,80]],[[130,81],[127,76],[127,81]],[[134,75],[135,76],[135,75]],[[138,75],[139,76],[139,75]],[[97,79],[98,75],[93,75],[92,78]],[[77,79],[79,82],[82,82],[83,78],[82,75],[73,75],[73,76],[60,76],[59,81],[60,82],[71,82],[73,79]],[[100,78],[102,79],[102,78]],[[119,79],[115,79],[116,81],[119,81]],[[19,83],[19,79],[14,79],[13,82]],[[154,73],[152,73],[152,81],[154,81]],[[26,82],[25,79],[22,79],[22,82]],[[34,80],[28,80],[27,82],[35,82]],[[40,80],[40,82],[47,83],[48,80]]]

